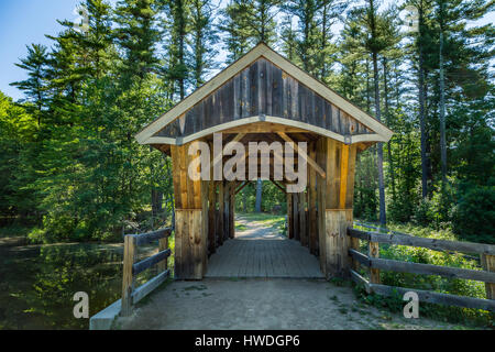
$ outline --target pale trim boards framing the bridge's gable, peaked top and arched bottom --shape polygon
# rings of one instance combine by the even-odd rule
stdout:
[[[232,80],[235,76],[239,76],[243,70],[245,70],[246,67],[250,65],[253,65],[256,61],[265,59],[270,62],[271,64],[275,65],[285,75],[289,75],[290,77],[294,77],[295,80],[297,80],[299,84],[307,87],[309,90],[314,91],[316,95],[324,99],[327,102],[331,103],[333,107],[337,107],[339,110],[341,110],[344,114],[348,114],[350,118],[354,119],[358,124],[362,124],[363,128],[366,130],[366,134],[356,135],[356,138],[353,136],[352,143],[356,143],[360,141],[370,141],[370,142],[387,142],[391,138],[393,132],[386,128],[383,123],[377,121],[376,119],[372,118],[370,114],[341,97],[339,94],[337,94],[334,90],[328,88],[324,84],[319,81],[318,79],[314,78],[289,61],[287,61],[285,57],[270,48],[266,44],[258,44],[256,47],[251,50],[248,54],[239,58],[237,62],[231,64],[229,67],[220,72],[217,76],[215,76],[211,80],[206,82],[204,86],[195,90],[190,96],[182,100],[179,103],[177,103],[175,107],[173,107],[170,110],[168,110],[166,113],[164,113],[162,117],[153,121],[151,124],[148,124],[146,128],[144,128],[140,133],[136,134],[135,139],[140,144],[183,144],[186,143],[188,140],[194,140],[197,138],[202,136],[205,133],[209,133],[210,129],[205,129],[201,131],[202,133],[195,133],[193,135],[188,135],[187,141],[184,138],[170,138],[170,136],[160,136],[157,135],[158,132],[163,131],[166,127],[168,127],[170,123],[173,123],[178,118],[180,119],[180,129],[184,132],[184,124],[185,124],[185,116],[188,111],[190,111],[193,108],[201,103],[204,100],[206,100],[208,97],[210,97],[212,94],[215,94],[219,88],[224,86],[227,82]],[[339,113],[340,117],[340,113]],[[198,119],[197,116],[194,117],[194,119]],[[276,122],[279,124],[287,124],[287,125],[297,125],[301,127],[304,129],[307,129],[308,131],[312,131],[318,134],[327,135],[337,140],[344,141],[344,136],[342,134],[336,133],[336,131],[326,130],[324,128],[311,125],[308,123],[300,123],[299,121],[294,121],[290,119],[284,119],[280,117],[266,117],[263,116],[253,116],[244,119],[240,119],[237,121],[230,121],[228,123],[224,123],[226,128],[232,127],[234,124],[245,124],[245,123],[253,123],[256,121],[268,121],[273,120],[272,122]],[[217,127],[216,130],[221,130],[221,127]]]

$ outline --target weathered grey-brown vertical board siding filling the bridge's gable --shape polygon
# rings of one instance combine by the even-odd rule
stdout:
[[[155,136],[184,138],[263,114],[305,122],[341,135],[374,133],[271,62],[260,58]]]

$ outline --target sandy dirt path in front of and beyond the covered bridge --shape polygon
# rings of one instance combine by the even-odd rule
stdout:
[[[238,221],[243,239],[284,238],[261,221]],[[455,329],[406,319],[360,302],[350,283],[323,279],[207,278],[172,282],[140,304],[118,329]]]

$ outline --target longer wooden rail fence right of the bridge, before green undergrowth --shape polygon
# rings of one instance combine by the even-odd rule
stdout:
[[[354,282],[362,284],[369,294],[376,293],[392,296],[394,293],[404,295],[406,292],[415,292],[418,294],[420,301],[495,311],[495,245],[418,238],[397,232],[361,231],[358,229],[348,229],[348,234],[351,237],[349,254],[353,260],[351,276]],[[360,252],[360,240],[369,242],[367,255]],[[435,251],[476,253],[481,255],[483,271],[380,258],[380,243],[425,248]],[[370,280],[359,274],[360,265],[369,268]],[[380,271],[440,275],[484,282],[487,299],[382,285]]]

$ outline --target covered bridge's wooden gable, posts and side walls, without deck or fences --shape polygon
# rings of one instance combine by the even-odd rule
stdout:
[[[295,160],[308,165],[307,187],[287,191],[288,237],[319,256],[324,276],[346,275],[346,228],[352,223],[356,153],[373,143],[387,142],[393,132],[258,44],[136,135],[139,143],[152,145],[173,160],[175,277],[180,279],[207,275],[209,256],[234,237],[235,194],[253,180],[248,173],[248,153],[241,180],[213,180],[213,168],[220,162],[213,155],[211,180],[189,177],[189,165],[197,158],[195,153],[189,155],[189,146],[202,141],[212,153],[215,133],[221,133],[221,147],[232,141],[246,150],[251,142],[294,143]],[[299,142],[307,142],[307,151],[297,147]],[[271,172],[263,178],[286,191],[294,177],[284,173],[282,179],[274,179],[274,165],[285,160],[274,151],[267,160]],[[300,172],[298,167],[296,163]],[[195,172],[199,175],[204,170],[197,167]]]

